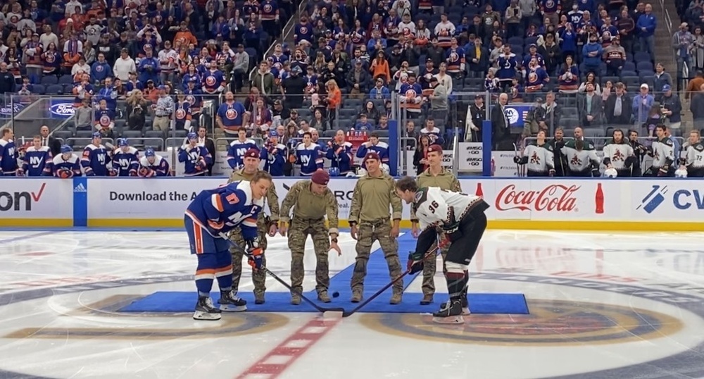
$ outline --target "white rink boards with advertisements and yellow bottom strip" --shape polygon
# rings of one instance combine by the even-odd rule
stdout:
[[[276,178],[279,202],[297,180]],[[181,228],[189,201],[225,182],[224,177],[0,178],[0,226]],[[355,183],[355,178],[329,183],[342,227],[348,225]],[[704,230],[703,180],[470,178],[460,183],[463,191],[489,203],[490,228]],[[403,204],[402,227],[410,227],[409,218],[410,208]]]

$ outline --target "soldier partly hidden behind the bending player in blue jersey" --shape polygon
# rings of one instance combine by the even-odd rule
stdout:
[[[259,170],[259,151],[249,149],[243,156],[244,167],[235,170],[230,175],[228,182],[237,182],[238,180],[250,180]],[[259,230],[259,247],[266,251],[266,235],[267,233],[274,237],[278,230],[279,220],[279,197],[276,194],[276,185],[272,182],[270,190],[266,194],[266,202],[269,204],[271,216],[266,216],[264,212],[259,213],[257,219],[257,228]],[[239,228],[235,228],[230,232],[230,240],[244,247],[244,238]],[[239,288],[239,279],[242,276],[242,251],[231,248],[232,254],[232,289],[237,292]],[[266,258],[263,257],[263,266],[266,266]],[[252,282],[254,282],[254,304],[264,304],[264,292],[266,290],[266,274],[263,270],[252,271]]]

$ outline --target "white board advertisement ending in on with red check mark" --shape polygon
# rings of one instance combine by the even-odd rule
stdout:
[[[0,218],[73,218],[73,182],[54,178],[3,179]]]

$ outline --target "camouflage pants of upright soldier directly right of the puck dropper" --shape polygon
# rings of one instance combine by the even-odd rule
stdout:
[[[391,238],[391,225],[388,221],[379,223],[360,223],[357,232],[357,257],[352,274],[352,290],[364,290],[364,278],[367,276],[367,261],[372,250],[372,244],[379,241],[389,265],[389,277],[394,280],[401,276],[401,259],[398,259],[398,241]],[[394,284],[394,292],[403,291],[403,282],[399,280]]]

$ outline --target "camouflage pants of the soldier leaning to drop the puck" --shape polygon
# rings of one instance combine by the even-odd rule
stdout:
[[[291,220],[289,228],[289,249],[291,250],[291,287],[299,293],[303,292],[303,253],[306,251],[306,239],[313,237],[315,249],[315,290],[320,293],[327,291],[330,285],[327,254],[330,250],[330,237],[325,218],[320,220]]]

